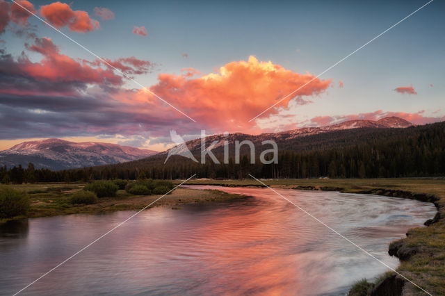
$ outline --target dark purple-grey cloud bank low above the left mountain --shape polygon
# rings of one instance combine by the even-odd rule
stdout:
[[[86,135],[166,135],[184,120],[147,116],[140,107],[93,97],[44,97],[0,94],[0,138]],[[168,127],[170,126],[170,127]]]

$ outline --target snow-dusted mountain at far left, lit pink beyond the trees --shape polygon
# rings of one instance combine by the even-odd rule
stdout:
[[[110,143],[77,143],[51,138],[22,142],[10,149],[0,151],[0,165],[26,167],[28,163],[33,163],[36,168],[65,170],[135,161],[156,153],[157,151]]]

